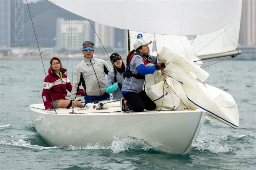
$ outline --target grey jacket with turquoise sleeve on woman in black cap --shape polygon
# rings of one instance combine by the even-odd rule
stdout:
[[[113,92],[113,100],[116,99],[121,99],[122,94],[121,94],[121,90],[118,87],[117,83],[123,84],[124,82],[124,73],[119,73],[118,71],[116,72],[116,81],[114,81],[114,77],[115,77],[115,70],[114,68],[108,72],[108,77],[107,77],[107,81],[106,81],[106,91],[107,93],[112,93]]]

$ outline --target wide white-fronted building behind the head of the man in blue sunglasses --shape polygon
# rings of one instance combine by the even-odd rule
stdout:
[[[72,20],[69,22],[64,18],[58,18],[56,25],[57,49],[71,50],[72,39],[72,50],[82,50],[83,42],[91,40],[90,27],[88,21]]]

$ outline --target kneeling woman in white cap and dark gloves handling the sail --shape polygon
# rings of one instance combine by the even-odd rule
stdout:
[[[134,49],[127,55],[125,79],[121,93],[124,96],[120,100],[121,110],[129,112],[142,112],[155,110],[156,104],[147,96],[143,90],[146,74],[153,74],[156,70],[164,68],[164,63],[157,63],[157,57],[149,54],[148,44],[152,41],[138,39],[134,43]],[[148,63],[154,66],[146,66]]]

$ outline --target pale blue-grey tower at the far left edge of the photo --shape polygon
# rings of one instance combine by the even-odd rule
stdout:
[[[11,1],[0,1],[0,47],[11,46]]]

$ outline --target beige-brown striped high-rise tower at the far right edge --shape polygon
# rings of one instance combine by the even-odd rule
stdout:
[[[256,1],[245,0],[242,6],[239,44],[243,46],[256,45]]]

